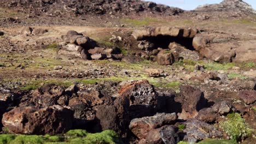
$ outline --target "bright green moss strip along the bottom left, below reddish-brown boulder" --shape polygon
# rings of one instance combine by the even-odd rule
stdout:
[[[0,144],[45,144],[45,143],[123,143],[113,130],[104,130],[101,133],[91,134],[86,130],[70,130],[64,135],[0,135]]]

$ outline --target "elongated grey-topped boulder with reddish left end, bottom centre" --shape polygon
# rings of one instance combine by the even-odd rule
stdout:
[[[132,119],[129,129],[139,139],[145,139],[150,130],[160,128],[165,124],[174,124],[176,119],[176,113],[157,113],[152,117]]]

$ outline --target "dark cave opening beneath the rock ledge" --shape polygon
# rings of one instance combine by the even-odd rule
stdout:
[[[161,47],[162,49],[168,49],[169,44],[175,42],[191,51],[195,50],[193,47],[193,38],[184,38],[180,35],[178,35],[178,37],[172,37],[170,35],[158,35],[156,37],[145,37],[143,40],[153,43],[153,49],[158,49],[158,47]]]

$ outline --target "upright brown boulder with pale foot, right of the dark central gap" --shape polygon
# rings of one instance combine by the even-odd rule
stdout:
[[[182,103],[182,113],[180,119],[193,118],[197,115],[198,111],[206,105],[203,92],[191,86],[180,87]]]

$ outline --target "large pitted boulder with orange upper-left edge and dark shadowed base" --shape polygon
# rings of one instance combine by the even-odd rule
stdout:
[[[130,119],[153,116],[155,113],[158,93],[147,80],[126,83],[120,88],[118,97],[130,100]]]

